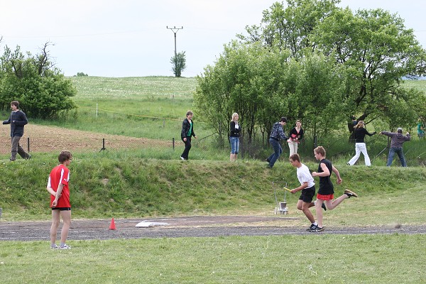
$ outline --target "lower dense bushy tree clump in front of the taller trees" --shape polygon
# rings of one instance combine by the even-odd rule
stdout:
[[[339,129],[344,117],[341,67],[322,54],[289,58],[290,51],[260,43],[225,45],[215,65],[197,77],[197,110],[223,140],[234,111],[240,115],[246,141],[258,131],[267,140],[281,116],[302,119],[312,138]]]

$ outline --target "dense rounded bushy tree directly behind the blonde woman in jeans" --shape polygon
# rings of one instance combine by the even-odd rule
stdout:
[[[195,106],[222,139],[229,134],[233,112],[239,113],[249,141],[256,126],[266,133],[283,115],[286,104],[278,89],[287,58],[288,53],[272,52],[258,43],[233,41],[214,66],[204,68],[197,77]]]

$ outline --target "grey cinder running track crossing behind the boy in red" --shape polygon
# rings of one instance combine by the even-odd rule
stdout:
[[[305,227],[285,226],[291,217],[218,216],[154,219],[116,219],[115,230],[109,229],[111,219],[73,220],[68,239],[141,239],[209,236],[280,236],[313,234]],[[136,227],[144,222],[147,227]],[[273,225],[270,225],[273,224]],[[50,222],[1,222],[0,241],[48,241]],[[325,228],[316,234],[426,234],[421,226],[356,226]]]

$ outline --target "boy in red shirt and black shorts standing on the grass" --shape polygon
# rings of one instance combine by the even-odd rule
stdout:
[[[50,247],[52,249],[71,249],[65,244],[68,231],[71,225],[71,203],[70,203],[70,188],[68,181],[70,180],[70,170],[67,166],[70,165],[72,155],[68,151],[62,151],[58,160],[60,165],[57,165],[50,172],[48,186],[46,189],[50,193],[50,207],[52,208],[52,226],[50,226]],[[62,217],[62,231],[60,233],[60,246],[56,246],[56,235],[58,232],[60,217]]]

